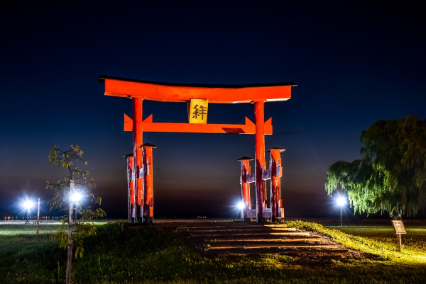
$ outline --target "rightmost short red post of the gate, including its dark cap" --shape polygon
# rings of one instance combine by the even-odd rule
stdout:
[[[281,176],[283,176],[283,168],[281,168],[281,152],[285,149],[273,147],[269,150],[271,155],[271,211],[272,222],[282,220],[284,217],[283,200],[281,199]]]

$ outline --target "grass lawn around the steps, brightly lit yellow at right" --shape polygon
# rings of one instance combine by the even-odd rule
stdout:
[[[398,252],[391,227],[312,229],[373,255],[364,260],[300,261],[288,256],[207,258],[188,249],[179,232],[161,227],[99,226],[75,259],[73,283],[425,283],[426,227],[408,227]],[[0,225],[0,283],[63,283],[65,250],[50,241],[58,225]]]

